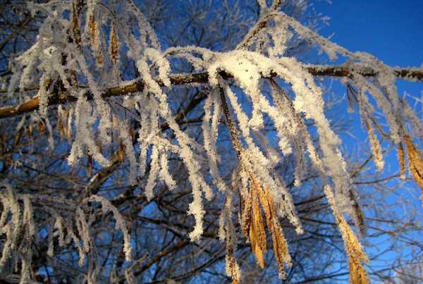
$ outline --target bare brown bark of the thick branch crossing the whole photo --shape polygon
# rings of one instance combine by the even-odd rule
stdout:
[[[315,76],[331,76],[331,77],[349,77],[351,72],[359,73],[365,77],[373,77],[377,75],[376,70],[372,68],[355,68],[352,66],[341,65],[341,66],[324,66],[324,65],[305,65],[305,69],[308,72]],[[395,73],[398,79],[405,79],[405,80],[416,80],[416,81],[423,81],[423,68],[393,68],[393,72]],[[232,78],[231,74],[221,72],[221,77],[223,79]],[[276,76],[276,74],[271,73],[271,77]],[[171,75],[171,84],[172,85],[185,85],[190,83],[207,83],[209,81],[209,74],[207,72],[204,73],[192,73],[192,74],[175,74]],[[159,85],[163,85],[162,82],[159,82]],[[123,87],[111,87],[106,89],[102,97],[105,99],[108,97],[117,97],[123,94],[131,94],[134,92],[141,92],[144,89],[144,83],[139,80],[137,82],[132,82],[128,85],[124,85]],[[28,90],[34,90],[37,88],[30,88]],[[0,90],[0,93],[5,93],[6,91]],[[87,98],[89,100],[92,99],[92,94],[87,92]],[[56,94],[53,95],[49,99],[49,105],[55,104],[66,104],[67,102],[76,101],[76,97],[68,95],[66,93]],[[39,106],[39,99],[38,97],[34,97],[29,101],[25,101],[23,104],[19,104],[17,106],[7,106],[0,109],[0,119],[1,118],[9,118],[13,116],[18,116],[23,113],[29,113],[31,111],[35,111],[38,109]]]

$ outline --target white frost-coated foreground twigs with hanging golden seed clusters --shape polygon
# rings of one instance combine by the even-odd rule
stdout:
[[[259,1],[262,6],[259,22],[251,27],[237,49],[228,52],[200,47],[162,49],[147,19],[130,0],[30,4],[32,13],[42,13],[45,20],[37,42],[13,62],[13,77],[8,83],[8,100],[13,107],[0,109],[0,115],[37,109],[31,121],[23,120],[18,128],[28,123],[39,124],[43,131],[46,128],[52,148],[55,130],[49,122],[49,106],[60,104],[56,130],[72,144],[68,164],[73,166],[87,155],[92,163],[103,167],[111,166],[114,159],[127,159],[129,183],[140,186],[147,199],[154,197],[154,187],[159,180],[164,181],[169,190],[176,187],[168,170],[168,157],[178,156],[189,173],[192,188],[188,211],[195,218],[190,233],[192,241],[199,240],[203,233],[204,199],[223,195],[226,200],[221,209],[219,233],[226,242],[226,271],[234,283],[240,281],[235,258],[237,232],[243,233],[257,263],[264,266],[266,226],[272,236],[281,278],[285,276],[284,266],[290,266],[288,243],[278,220],[288,218],[298,234],[302,233],[302,225],[290,193],[274,168],[285,156],[294,155],[295,185],[301,185],[305,165],[312,164],[345,242],[350,279],[353,283],[367,283],[363,268],[367,256],[345,221],[345,217],[351,218],[355,226],[364,231],[362,211],[340,151],[341,140],[331,130],[324,113],[322,91],[314,82],[314,73],[325,75],[326,70],[284,57],[286,43],[292,37],[301,37],[331,59],[348,58],[343,66],[348,72],[341,75],[341,80],[352,91],[350,101],[360,111],[379,171],[384,169],[384,156],[378,136],[398,145],[401,174],[405,175],[405,161],[408,161],[410,172],[423,187],[423,161],[412,139],[423,138],[423,129],[407,102],[398,96],[397,69],[369,54],[350,52],[317,35],[279,11],[280,2],[274,0],[269,7],[266,1]],[[117,3],[119,7],[115,7]],[[139,78],[121,79],[119,70],[123,67],[123,58],[136,64]],[[190,63],[192,74],[174,73],[174,60]],[[422,72],[419,68],[414,71]],[[366,73],[372,73],[372,77]],[[419,80],[412,75],[406,79]],[[283,87],[282,82],[288,87]],[[180,128],[168,102],[168,90],[182,84],[201,84],[207,92],[202,106],[203,144]],[[33,94],[35,85],[38,88]],[[120,94],[125,96],[116,104],[133,113],[130,119],[140,124],[135,133],[128,116],[123,118],[112,111],[112,97]],[[247,106],[240,103],[241,97]],[[382,128],[374,118],[375,106],[370,101],[376,101],[384,112],[388,129]],[[262,134],[264,116],[273,122],[277,131],[277,137],[272,139],[277,140],[278,151],[268,147],[268,137]],[[305,121],[308,120],[313,121],[317,130],[317,142],[307,130]],[[231,181],[223,180],[220,175],[224,165],[219,164],[221,153],[216,143],[222,121],[238,156],[238,167]],[[171,135],[164,134],[163,125]],[[118,158],[102,152],[113,143],[113,137],[118,137],[121,143],[116,153]],[[207,157],[207,163],[201,163],[198,156]],[[235,192],[239,192],[243,204],[238,215],[234,214],[232,205]],[[19,259],[22,261],[21,281],[25,283],[30,279],[32,242],[39,237],[32,220],[32,204],[52,201],[45,196],[18,195],[6,184],[2,185],[0,200],[0,233],[6,237],[0,270],[13,266],[13,261]],[[126,260],[130,261],[130,230],[108,199],[91,195],[79,202],[56,202],[61,202],[60,211],[54,206],[44,207],[46,214],[54,217],[54,223],[49,226],[47,254],[54,252],[54,237],[59,237],[59,246],[73,242],[78,247],[80,264],[88,261],[87,280],[94,282],[99,264],[95,261],[90,226],[96,220],[87,218],[86,212],[101,209],[116,219],[116,228],[124,235]],[[59,205],[56,203],[56,206]],[[239,218],[236,223],[242,230],[234,227],[234,218]],[[127,274],[130,280],[130,273]]]

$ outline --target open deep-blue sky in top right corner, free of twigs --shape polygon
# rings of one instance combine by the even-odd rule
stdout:
[[[315,8],[331,18],[320,33],[334,33],[333,42],[391,66],[423,63],[423,0],[333,0]]]

